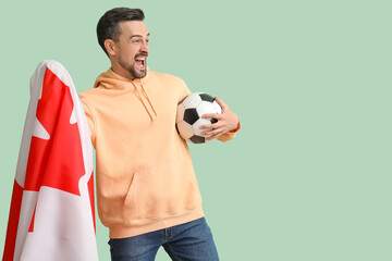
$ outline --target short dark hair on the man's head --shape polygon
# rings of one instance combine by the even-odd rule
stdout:
[[[144,21],[144,13],[140,9],[115,8],[106,12],[97,24],[98,44],[109,57],[105,48],[105,40],[119,40],[121,29],[119,22],[121,21]]]

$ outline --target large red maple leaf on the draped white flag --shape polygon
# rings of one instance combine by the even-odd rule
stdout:
[[[81,195],[78,181],[85,167],[77,123],[70,123],[73,108],[70,88],[47,69],[36,115],[50,138],[32,137],[24,190],[47,186]],[[33,225],[34,221],[29,231]]]

